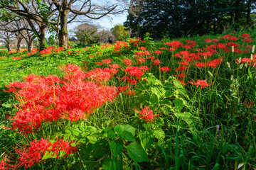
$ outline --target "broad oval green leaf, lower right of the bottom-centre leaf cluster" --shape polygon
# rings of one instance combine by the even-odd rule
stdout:
[[[133,142],[129,144],[127,146],[127,152],[134,162],[147,162],[149,160],[143,147],[137,143]]]

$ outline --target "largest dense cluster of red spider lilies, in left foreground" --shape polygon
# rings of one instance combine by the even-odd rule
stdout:
[[[11,129],[26,134],[41,128],[43,122],[83,119],[118,94],[113,86],[100,86],[85,80],[85,77],[96,81],[110,79],[116,69],[93,70],[91,74],[79,71],[80,68],[72,64],[62,69],[66,74],[61,81],[51,75],[46,78],[31,75],[25,77],[24,82],[9,84],[8,92],[14,93],[20,101]]]

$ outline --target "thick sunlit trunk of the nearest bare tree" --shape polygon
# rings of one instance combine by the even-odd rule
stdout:
[[[67,4],[63,5],[66,8]],[[60,31],[58,33],[60,47],[68,49],[68,10],[60,11]]]

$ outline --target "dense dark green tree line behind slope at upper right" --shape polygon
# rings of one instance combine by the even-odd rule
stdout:
[[[132,36],[163,37],[222,33],[255,28],[255,0],[134,0],[124,26]]]

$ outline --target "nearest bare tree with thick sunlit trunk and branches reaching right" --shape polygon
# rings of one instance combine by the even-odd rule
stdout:
[[[117,8],[118,1],[91,1],[91,0],[53,0],[58,11],[55,30],[61,47],[68,47],[68,23],[85,19],[97,20],[110,14],[122,13],[124,8]]]

